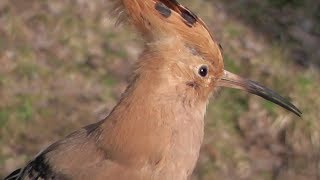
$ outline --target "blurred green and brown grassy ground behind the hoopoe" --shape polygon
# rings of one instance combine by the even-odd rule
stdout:
[[[320,179],[320,1],[181,0],[207,23],[227,70],[303,112],[222,89],[206,116],[193,179]],[[115,27],[108,0],[0,0],[0,179],[105,117],[142,40]]]

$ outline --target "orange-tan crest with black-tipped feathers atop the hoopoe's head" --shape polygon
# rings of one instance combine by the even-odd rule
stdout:
[[[223,73],[221,46],[206,24],[176,0],[117,0],[113,15],[133,25],[147,43],[173,37],[193,55],[209,61],[218,76]],[[176,41],[176,42],[177,42]]]

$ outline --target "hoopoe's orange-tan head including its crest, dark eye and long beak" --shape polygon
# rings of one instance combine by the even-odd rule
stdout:
[[[161,69],[183,91],[207,100],[216,87],[241,89],[301,116],[299,109],[271,89],[225,70],[220,44],[205,23],[176,0],[123,0],[115,12],[144,37],[144,58],[150,69],[155,73]]]

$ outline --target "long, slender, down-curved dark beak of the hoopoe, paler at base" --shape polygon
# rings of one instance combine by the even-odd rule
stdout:
[[[288,100],[286,100],[276,92],[272,91],[271,89],[264,87],[255,81],[244,79],[226,70],[224,70],[224,75],[218,82],[218,86],[245,90],[249,93],[258,95],[275,104],[278,104],[279,106],[282,106],[283,108],[293,112],[299,117],[301,117],[302,115],[301,111],[297,107],[295,107]]]

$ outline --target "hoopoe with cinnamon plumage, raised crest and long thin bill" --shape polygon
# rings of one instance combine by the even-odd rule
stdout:
[[[208,101],[221,87],[302,115],[273,90],[225,70],[219,42],[177,0],[111,2],[111,14],[144,39],[128,87],[106,118],[51,144],[5,180],[189,179]]]

